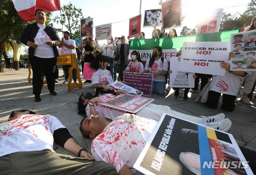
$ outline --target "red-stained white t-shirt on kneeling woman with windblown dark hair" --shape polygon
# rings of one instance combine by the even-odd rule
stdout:
[[[107,81],[107,77],[104,73],[107,75],[108,79],[110,79],[111,83],[113,83],[112,75],[109,70],[98,69],[98,70],[94,71],[94,73],[92,74],[92,79],[91,79],[92,85],[94,85],[94,84],[107,85],[108,81]]]

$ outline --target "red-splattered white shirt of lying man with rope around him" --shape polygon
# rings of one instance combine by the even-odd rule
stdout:
[[[146,140],[158,124],[156,120],[136,115],[137,124]],[[92,141],[91,152],[96,160],[111,163],[119,171],[127,164],[132,168],[145,143],[136,127],[121,120],[114,120]]]

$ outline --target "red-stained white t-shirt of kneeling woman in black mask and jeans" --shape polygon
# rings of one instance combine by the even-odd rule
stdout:
[[[162,63],[161,58],[158,61],[155,61],[152,67],[149,67],[149,60],[147,60],[145,64],[145,69],[144,70],[149,70],[150,74],[154,74],[157,72],[162,72],[163,70],[168,71],[168,62],[166,59],[164,59],[164,64]],[[156,77],[153,77],[153,81],[165,81],[165,76],[164,75],[158,75]]]

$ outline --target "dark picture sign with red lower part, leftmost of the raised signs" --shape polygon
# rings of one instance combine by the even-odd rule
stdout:
[[[92,36],[93,18],[84,18],[80,21],[81,37]]]

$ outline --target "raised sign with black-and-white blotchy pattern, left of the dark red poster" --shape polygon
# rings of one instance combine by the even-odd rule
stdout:
[[[145,10],[143,27],[162,27],[162,10]]]

